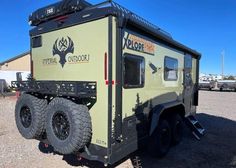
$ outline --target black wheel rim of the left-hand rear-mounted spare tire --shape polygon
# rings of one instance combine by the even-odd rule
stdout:
[[[20,110],[21,123],[25,128],[29,128],[32,121],[32,116],[30,108],[28,106],[23,106]]]

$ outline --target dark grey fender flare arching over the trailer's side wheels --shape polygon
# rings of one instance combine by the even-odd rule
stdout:
[[[175,107],[175,106],[183,106],[185,109],[185,106],[182,102],[180,101],[173,101],[173,102],[168,102],[168,103],[163,103],[163,104],[159,104],[157,106],[155,106],[152,111],[152,119],[151,119],[151,124],[150,124],[150,131],[149,131],[149,135],[152,135],[152,133],[154,132],[154,130],[156,129],[158,122],[159,122],[159,118],[161,116],[161,114],[166,110],[169,109],[171,107]]]

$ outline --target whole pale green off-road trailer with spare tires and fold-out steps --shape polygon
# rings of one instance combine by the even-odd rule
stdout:
[[[29,21],[33,79],[12,83],[22,92],[15,114],[25,138],[113,164],[142,140],[165,155],[183,120],[203,134],[193,117],[198,52],[109,1],[63,0]]]

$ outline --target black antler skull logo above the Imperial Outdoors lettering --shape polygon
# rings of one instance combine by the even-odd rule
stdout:
[[[66,61],[66,56],[69,53],[74,53],[74,43],[70,37],[67,38],[62,37],[60,40],[59,38],[55,41],[53,45],[52,54],[53,56],[59,55],[62,68],[64,67]]]

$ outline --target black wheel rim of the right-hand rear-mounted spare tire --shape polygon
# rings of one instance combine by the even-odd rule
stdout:
[[[60,140],[65,140],[69,136],[70,123],[65,113],[59,111],[52,118],[53,132]]]

